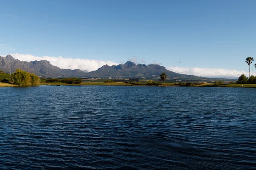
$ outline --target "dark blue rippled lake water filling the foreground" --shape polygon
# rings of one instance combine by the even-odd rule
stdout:
[[[0,88],[0,169],[256,169],[256,88]]]

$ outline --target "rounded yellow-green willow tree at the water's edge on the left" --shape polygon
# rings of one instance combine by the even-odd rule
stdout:
[[[11,76],[12,82],[19,86],[39,85],[40,79],[35,74],[17,69]]]

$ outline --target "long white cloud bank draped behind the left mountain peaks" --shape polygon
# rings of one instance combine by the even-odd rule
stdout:
[[[31,54],[11,54],[12,57],[15,59],[19,59],[21,61],[35,61],[35,60],[48,60],[52,65],[55,65],[59,68],[70,68],[70,69],[77,69],[79,68],[82,71],[94,71],[98,68],[102,67],[102,65],[118,65],[115,62],[111,61],[103,61],[103,60],[96,60],[96,59],[79,59],[79,58],[63,58],[63,57],[38,57],[33,56]]]

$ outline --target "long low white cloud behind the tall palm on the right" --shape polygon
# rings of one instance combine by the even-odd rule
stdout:
[[[228,70],[222,68],[181,68],[181,67],[169,67],[167,68],[170,71],[174,71],[180,74],[189,74],[201,77],[223,77],[223,78],[237,78],[241,74],[249,77],[249,72],[247,71],[237,71],[237,70]],[[251,75],[256,75],[255,71],[252,71]]]

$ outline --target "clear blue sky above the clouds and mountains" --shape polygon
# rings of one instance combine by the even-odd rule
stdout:
[[[247,70],[256,0],[0,0],[0,54]],[[178,62],[180,62],[178,64]],[[254,71],[254,68],[253,68]]]

